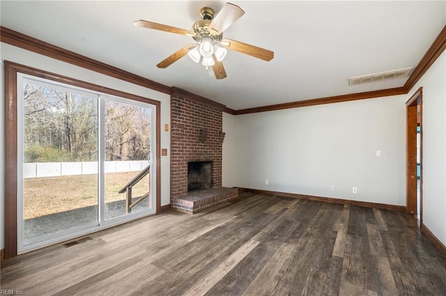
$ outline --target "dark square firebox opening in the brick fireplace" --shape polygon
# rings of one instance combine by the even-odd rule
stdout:
[[[212,187],[212,162],[187,163],[187,191]]]

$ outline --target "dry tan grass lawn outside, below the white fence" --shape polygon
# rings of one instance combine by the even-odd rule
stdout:
[[[139,171],[107,173],[105,175],[105,203],[125,200],[118,194]],[[147,175],[132,187],[132,196],[148,192]],[[24,219],[65,212],[98,204],[98,175],[59,176],[24,179]]]

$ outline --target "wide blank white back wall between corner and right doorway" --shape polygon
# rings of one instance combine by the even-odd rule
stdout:
[[[236,186],[405,205],[405,100],[236,116]]]

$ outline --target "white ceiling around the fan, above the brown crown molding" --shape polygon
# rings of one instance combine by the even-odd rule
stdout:
[[[155,65],[192,38],[133,26],[150,20],[190,29],[203,6],[225,1],[0,1],[1,26],[231,109],[403,86],[406,79],[348,86],[348,78],[416,66],[446,24],[446,1],[233,1],[245,15],[224,31],[275,52],[270,62],[238,52],[228,77],[183,57]]]

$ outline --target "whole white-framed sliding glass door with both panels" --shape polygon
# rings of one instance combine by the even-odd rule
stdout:
[[[153,105],[17,81],[19,253],[155,212]]]

